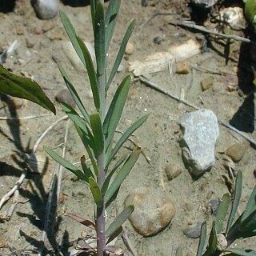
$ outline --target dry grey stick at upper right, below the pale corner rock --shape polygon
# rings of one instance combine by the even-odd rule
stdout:
[[[222,34],[222,33],[214,32],[212,30],[206,29],[206,27],[204,27],[204,26],[195,25],[192,22],[187,22],[187,21],[176,22],[176,21],[173,21],[173,22],[169,22],[169,24],[174,25],[174,26],[185,26],[185,27],[193,29],[193,30],[201,31],[202,33],[217,35],[220,38],[234,39],[235,41],[247,42],[247,43],[251,43],[253,45],[256,45],[256,42],[251,41],[248,38],[243,38],[243,37],[240,37],[240,36],[235,35],[235,34]]]

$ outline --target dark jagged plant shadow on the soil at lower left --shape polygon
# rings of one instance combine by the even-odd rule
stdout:
[[[43,183],[43,178],[46,175],[47,170],[49,169],[49,161],[46,158],[46,162],[42,167],[42,170],[38,168],[37,158],[35,158],[35,154],[33,154],[33,149],[30,147],[30,141],[27,146],[22,145],[21,138],[21,123],[18,119],[18,113],[15,109],[15,102],[12,98],[1,94],[2,102],[6,103],[6,113],[10,115],[11,120],[7,120],[7,125],[9,126],[10,135],[6,135],[2,133],[0,129],[0,133],[4,136],[8,136],[10,142],[14,143],[16,150],[14,150],[14,154],[11,155],[11,158],[17,164],[19,168],[15,168],[14,166],[9,165],[6,162],[0,162],[1,167],[1,176],[12,176],[12,177],[20,177],[22,174],[22,170],[27,170],[26,174],[26,189],[19,187],[19,194],[23,198],[29,199],[29,203],[31,209],[33,210],[33,214],[24,214],[22,212],[17,212],[17,215],[22,218],[27,218],[29,222],[36,226],[39,230],[42,231],[42,234],[45,234],[45,240],[49,244],[50,248],[53,250],[49,250],[46,248],[46,244],[42,241],[42,239],[37,240],[36,238],[32,238],[27,235],[26,232],[20,231],[20,234],[23,238],[26,239],[31,246],[34,246],[35,250],[41,251],[42,255],[57,255],[59,249],[58,242],[56,240],[56,232],[59,230],[59,225],[62,222],[62,218],[57,216],[57,208],[58,208],[58,199],[57,199],[57,184],[58,178],[56,175],[51,179],[51,190],[49,192],[46,191],[46,188]],[[30,161],[33,164],[30,164]],[[51,200],[50,206],[47,206],[49,202],[49,197]],[[46,225],[45,225],[46,223]],[[67,240],[69,239],[69,235],[66,232],[63,234],[62,242],[67,244]],[[62,248],[63,251],[66,251],[66,248]]]

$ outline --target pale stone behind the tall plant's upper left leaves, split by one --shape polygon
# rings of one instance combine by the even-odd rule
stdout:
[[[90,42],[84,42],[84,43],[86,44],[86,47],[90,52],[90,56],[95,64],[96,57],[94,52],[94,46],[92,46]],[[62,49],[65,51],[67,58],[69,58],[71,64],[74,66],[76,70],[78,71],[85,70],[85,67],[82,65],[82,62],[78,57],[78,54],[74,50],[74,47],[72,46],[72,43],[70,41],[62,42]]]

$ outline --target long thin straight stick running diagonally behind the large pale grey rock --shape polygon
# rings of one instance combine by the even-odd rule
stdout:
[[[166,96],[170,97],[170,98],[174,98],[175,100],[177,100],[178,102],[182,102],[183,104],[185,104],[186,106],[190,106],[192,108],[194,108],[195,110],[199,110],[200,108],[198,106],[195,106],[194,104],[187,102],[184,99],[180,99],[178,98],[177,95],[171,94],[166,90],[163,90],[160,86],[158,86],[156,83],[151,82],[149,80],[147,80],[146,78],[144,78],[143,76],[139,77],[139,80],[144,83],[146,86],[149,86],[150,88],[157,90],[159,92],[161,92],[162,94],[165,94]],[[233,130],[235,133],[239,134],[240,136],[242,136],[242,138],[245,138],[248,142],[250,142],[251,144],[253,144],[254,146],[256,146],[256,141],[254,141],[253,138],[250,138],[249,136],[247,136],[246,134],[242,133],[242,131],[234,128],[234,126],[230,126],[230,124],[223,122],[222,120],[218,119],[218,122],[220,122],[222,124],[222,126]]]

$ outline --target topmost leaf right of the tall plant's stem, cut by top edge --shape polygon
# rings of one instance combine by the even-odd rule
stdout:
[[[114,34],[114,27],[117,22],[118,12],[120,9],[121,0],[110,0],[109,6],[106,10],[106,53],[109,50],[110,41]]]

